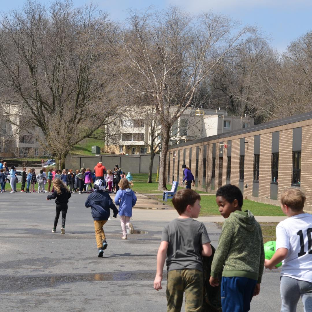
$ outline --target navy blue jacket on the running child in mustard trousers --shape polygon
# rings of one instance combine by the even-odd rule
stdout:
[[[88,196],[85,207],[91,207],[91,214],[95,221],[108,220],[110,217],[110,209],[114,212],[114,218],[116,218],[118,214],[118,209],[114,205],[110,195],[96,189]]]

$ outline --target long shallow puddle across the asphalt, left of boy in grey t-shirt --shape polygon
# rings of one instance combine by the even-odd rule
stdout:
[[[68,275],[0,276],[0,292],[57,287],[66,283],[154,280],[156,271],[108,272]],[[164,276],[165,278],[165,276]]]

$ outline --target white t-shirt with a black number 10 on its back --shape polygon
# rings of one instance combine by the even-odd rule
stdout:
[[[312,215],[301,213],[292,216],[276,227],[276,250],[287,248],[282,261],[282,276],[312,282]]]

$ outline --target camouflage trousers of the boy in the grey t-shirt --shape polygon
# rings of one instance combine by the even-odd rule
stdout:
[[[167,312],[180,312],[185,291],[185,311],[202,310],[204,276],[196,269],[172,270],[167,274]]]

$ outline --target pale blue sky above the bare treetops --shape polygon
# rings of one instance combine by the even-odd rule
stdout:
[[[284,51],[290,41],[312,29],[311,0],[95,0],[93,2],[108,11],[111,18],[119,20],[126,16],[127,8],[145,8],[150,4],[160,8],[166,8],[168,4],[179,5],[194,13],[212,9],[213,12],[241,20],[243,24],[261,27],[267,35],[271,35],[271,45],[279,51]],[[11,2],[0,0],[2,11],[22,6],[23,3],[22,0]],[[90,1],[73,0],[73,3],[79,6]]]

